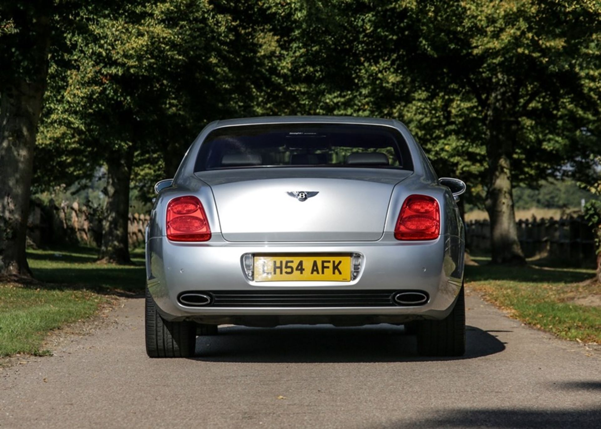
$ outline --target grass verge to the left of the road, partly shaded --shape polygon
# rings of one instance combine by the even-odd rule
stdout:
[[[144,251],[132,252],[132,266],[96,263],[97,249],[79,247],[28,251],[35,279],[0,282],[0,356],[47,354],[48,332],[93,315],[108,296],[144,290]]]

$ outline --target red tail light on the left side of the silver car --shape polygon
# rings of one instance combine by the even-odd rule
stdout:
[[[211,229],[200,199],[187,195],[169,201],[167,238],[174,242],[206,242],[211,238]]]

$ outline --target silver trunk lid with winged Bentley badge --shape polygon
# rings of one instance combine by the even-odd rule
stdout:
[[[204,171],[230,242],[375,241],[403,170],[253,168]],[[305,193],[305,194],[303,194]]]

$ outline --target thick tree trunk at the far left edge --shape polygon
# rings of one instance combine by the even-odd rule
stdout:
[[[20,33],[10,36],[15,39],[5,36],[8,42],[2,46],[30,62],[29,68],[23,64],[1,66],[6,68],[0,74],[0,276],[31,276],[25,243],[35,134],[48,73],[50,24],[46,12],[20,14],[15,19]],[[23,70],[18,68],[21,65]]]

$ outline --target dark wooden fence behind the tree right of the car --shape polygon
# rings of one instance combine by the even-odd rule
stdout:
[[[470,221],[465,227],[470,251],[490,250],[489,221]],[[517,236],[526,258],[548,257],[576,266],[596,260],[593,227],[582,216],[520,220]]]

